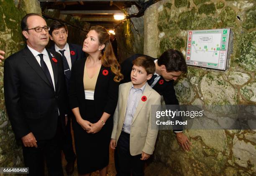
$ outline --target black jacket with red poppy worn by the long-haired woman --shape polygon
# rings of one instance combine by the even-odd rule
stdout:
[[[69,86],[69,103],[71,109],[79,107],[82,117],[84,117],[84,66],[86,59],[77,60],[72,68],[72,74]],[[103,70],[107,70],[108,74],[103,75]],[[100,73],[97,78],[94,92],[94,101],[97,104],[95,107],[95,114],[101,117],[103,112],[113,115],[118,101],[119,83],[114,81],[114,73],[111,72],[110,67],[100,68]],[[109,120],[108,120],[109,121]],[[108,122],[107,121],[107,122]],[[113,125],[113,124],[112,124]]]

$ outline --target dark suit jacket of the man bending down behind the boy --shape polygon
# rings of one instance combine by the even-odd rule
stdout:
[[[136,58],[143,56],[143,54],[135,54],[132,55],[130,58],[127,58],[121,64],[121,73],[124,76],[122,83],[127,83],[131,81],[131,70],[133,67],[133,60]],[[150,56],[148,56],[150,57]],[[156,60],[156,58],[150,57],[152,60]],[[160,84],[159,81],[163,80],[164,83]],[[164,102],[166,105],[178,105],[179,101],[176,98],[175,90],[174,90],[174,80],[166,81],[161,76],[159,81],[154,85],[153,89],[157,91],[160,95],[164,97]],[[162,82],[162,81],[161,81]]]

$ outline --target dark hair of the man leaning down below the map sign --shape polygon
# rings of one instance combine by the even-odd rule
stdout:
[[[181,71],[187,73],[187,64],[183,54],[178,50],[166,50],[157,60],[157,65],[164,65],[167,72]]]

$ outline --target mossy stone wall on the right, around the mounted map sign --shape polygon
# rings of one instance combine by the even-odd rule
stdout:
[[[152,39],[158,45],[155,50],[158,56],[169,48],[181,50],[185,55],[187,30],[232,30],[229,69],[189,66],[187,75],[175,85],[180,104],[256,104],[254,0],[163,0],[155,7],[157,10],[150,15],[158,17],[158,37]],[[144,38],[152,35],[147,32]],[[159,131],[154,159],[146,169],[148,175],[256,175],[256,130],[185,130],[184,133],[192,142],[189,152],[182,151],[172,131]]]

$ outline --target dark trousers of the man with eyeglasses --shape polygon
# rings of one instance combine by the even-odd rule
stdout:
[[[61,121],[59,119],[54,138],[37,140],[37,148],[22,145],[24,163],[25,167],[29,168],[29,176],[45,175],[44,159],[46,159],[48,176],[63,176],[60,150],[62,134],[63,130],[61,129]]]

